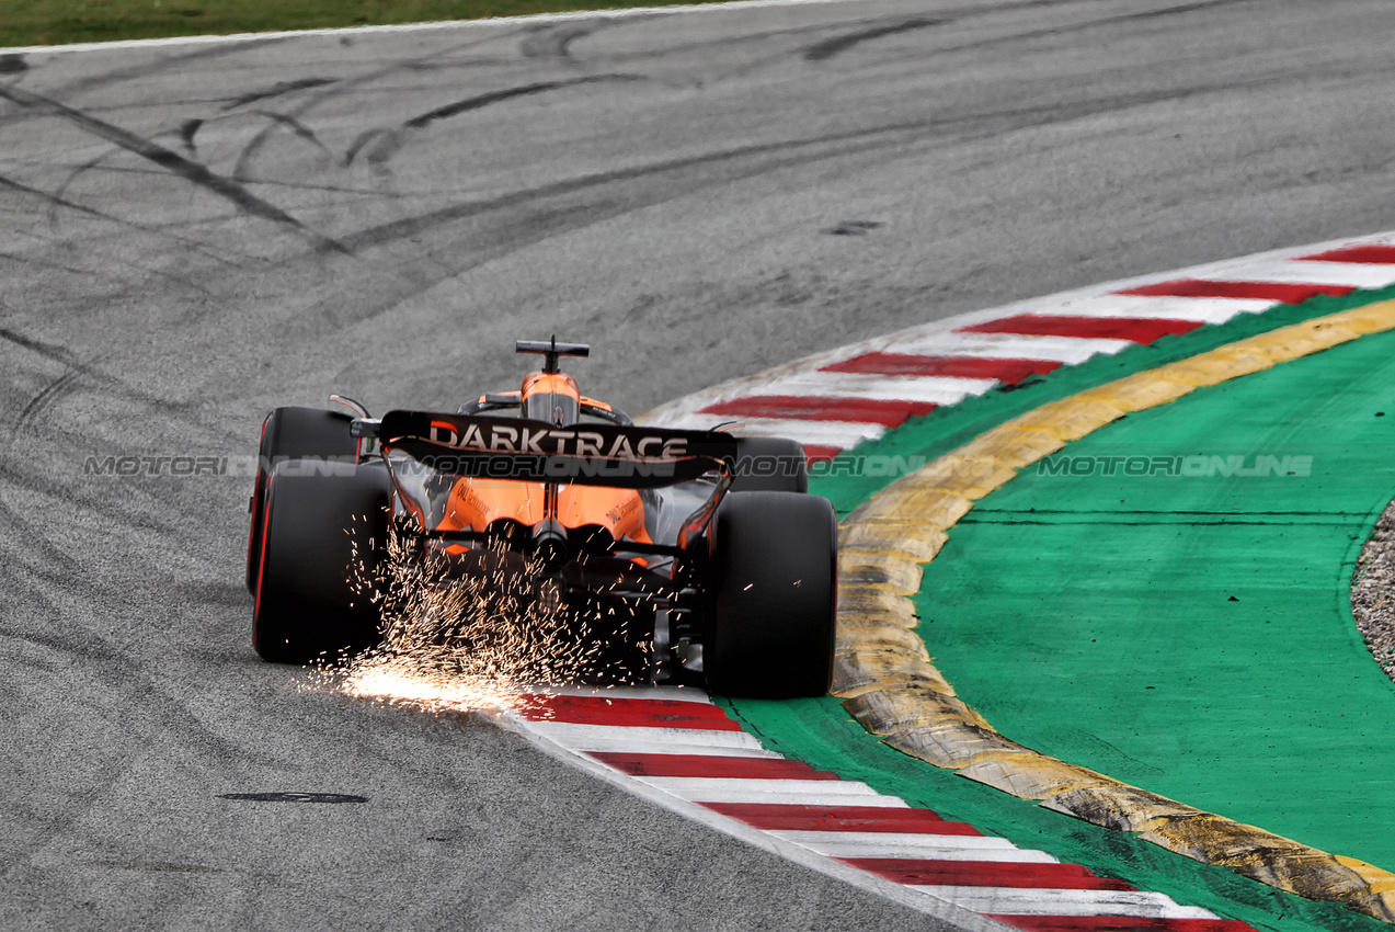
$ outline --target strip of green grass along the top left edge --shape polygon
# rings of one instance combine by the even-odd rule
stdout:
[[[0,0],[0,47],[275,32],[703,0]],[[714,0],[707,0],[714,1]]]

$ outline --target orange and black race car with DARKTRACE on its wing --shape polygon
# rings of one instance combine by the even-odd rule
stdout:
[[[823,695],[837,530],[808,494],[799,444],[636,426],[561,371],[587,346],[516,350],[543,368],[455,413],[374,419],[335,395],[347,410],[266,417],[247,554],[257,653],[304,664],[381,650],[402,636],[393,614],[455,586],[467,597],[453,611],[508,592],[561,619],[562,640],[590,642],[593,661],[564,671],[579,682]],[[469,649],[472,631],[434,636]]]

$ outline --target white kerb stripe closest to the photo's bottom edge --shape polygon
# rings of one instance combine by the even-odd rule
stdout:
[[[1148,919],[1214,919],[1201,907],[1177,905],[1162,893],[910,885],[985,915],[1127,915]]]

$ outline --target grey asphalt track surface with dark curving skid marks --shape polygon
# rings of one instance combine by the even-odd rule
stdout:
[[[1392,28],[858,0],[0,57],[0,925],[942,928],[485,721],[303,688],[248,645],[250,480],[84,460],[246,456],[331,391],[453,406],[554,331],[640,412],[1391,229]],[[365,801],[222,798],[275,791]]]

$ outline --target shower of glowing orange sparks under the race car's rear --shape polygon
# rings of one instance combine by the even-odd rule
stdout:
[[[591,601],[568,606],[540,562],[501,547],[469,572],[445,553],[389,533],[381,565],[357,557],[354,590],[381,611],[382,643],[322,679],[353,696],[431,710],[504,710],[561,685],[649,678],[651,625]],[[481,569],[483,568],[483,569]]]

